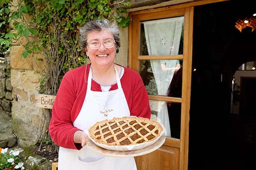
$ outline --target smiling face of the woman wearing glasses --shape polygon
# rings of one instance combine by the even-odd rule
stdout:
[[[103,41],[106,40],[114,41],[113,33],[109,32],[108,30],[103,29],[101,31],[93,31],[87,35],[87,43],[93,41],[99,41],[100,43],[103,43]],[[114,44],[112,48],[105,48],[103,44],[101,44],[99,49],[92,49],[87,46],[85,48],[85,52],[91,60],[92,65],[108,67],[114,63],[116,45]]]

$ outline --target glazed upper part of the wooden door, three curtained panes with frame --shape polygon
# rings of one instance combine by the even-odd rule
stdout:
[[[162,8],[131,13],[129,67],[140,73],[149,95],[151,119],[165,128],[170,141],[182,139],[181,132],[188,128],[190,10]]]

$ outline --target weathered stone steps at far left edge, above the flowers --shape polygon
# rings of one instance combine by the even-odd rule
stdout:
[[[12,133],[11,117],[5,111],[0,110],[0,147],[10,148],[16,143],[16,136]]]

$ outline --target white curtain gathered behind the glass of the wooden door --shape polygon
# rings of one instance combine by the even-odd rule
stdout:
[[[177,55],[184,17],[143,22],[149,55]],[[167,95],[177,60],[150,60],[157,84],[158,95]],[[163,69],[164,66],[167,69]],[[165,101],[158,101],[157,117],[165,127],[165,135],[171,137],[170,121]]]

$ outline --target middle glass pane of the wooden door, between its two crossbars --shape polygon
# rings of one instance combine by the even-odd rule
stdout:
[[[140,75],[149,95],[182,97],[181,60],[141,60]]]

